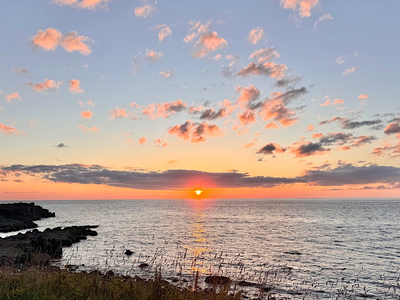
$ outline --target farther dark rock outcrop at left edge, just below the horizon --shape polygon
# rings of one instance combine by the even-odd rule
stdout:
[[[0,204],[0,232],[10,232],[26,228],[35,228],[33,221],[42,217],[55,216],[39,205],[31,203],[2,203]]]

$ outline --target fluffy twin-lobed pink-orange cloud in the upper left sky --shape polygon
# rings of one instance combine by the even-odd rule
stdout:
[[[32,37],[34,47],[41,47],[46,51],[54,51],[60,45],[66,51],[78,51],[80,54],[90,54],[90,46],[86,43],[93,40],[87,36],[78,35],[76,31],[68,32],[64,35],[56,28],[47,28],[45,31],[38,30]]]

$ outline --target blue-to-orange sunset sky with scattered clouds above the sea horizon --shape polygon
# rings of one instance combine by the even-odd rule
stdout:
[[[0,200],[400,195],[398,1],[1,8]]]

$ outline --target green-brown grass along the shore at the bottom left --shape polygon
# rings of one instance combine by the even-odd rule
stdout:
[[[218,292],[216,292],[218,290]],[[112,272],[70,272],[66,269],[15,268],[0,270],[0,299],[26,300],[235,300],[228,286],[209,289],[178,288],[159,274],[152,279],[115,276]]]

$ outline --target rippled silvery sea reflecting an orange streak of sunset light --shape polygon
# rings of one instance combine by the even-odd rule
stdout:
[[[400,266],[400,199],[188,199],[35,201],[46,227],[98,224],[60,263],[200,279],[210,272],[275,285],[277,293],[377,294]],[[4,236],[4,234],[2,235]],[[133,251],[131,256],[123,254]],[[180,274],[179,274],[180,273]],[[148,273],[149,274],[149,273]],[[249,291],[249,292],[254,292]]]

